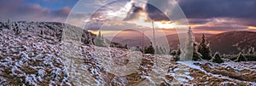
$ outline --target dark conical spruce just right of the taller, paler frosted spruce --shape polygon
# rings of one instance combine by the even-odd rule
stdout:
[[[202,55],[202,59],[211,60],[211,50],[209,45],[206,43],[205,35],[203,34],[201,37],[201,43],[198,46],[198,52]]]

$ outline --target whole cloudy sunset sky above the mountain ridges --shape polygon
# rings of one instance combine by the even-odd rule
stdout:
[[[77,12],[78,14],[76,16],[80,17],[77,19],[74,18],[73,22],[76,23],[73,24],[76,26],[82,26],[83,23],[86,23],[89,24],[91,30],[97,30],[96,25],[102,26],[103,24],[105,28],[108,28],[108,30],[106,29],[108,32],[115,32],[116,30],[113,30],[113,28],[119,28],[120,26],[126,26],[127,28],[134,27],[137,29],[148,28],[149,30],[150,27],[147,25],[151,23],[150,20],[155,20],[155,24],[157,25],[156,28],[162,28],[166,32],[174,32],[174,29],[168,29],[176,26],[172,25],[175,24],[172,21],[183,18],[183,16],[178,16],[182,15],[180,11],[170,9],[174,8],[170,7],[173,5],[172,3],[159,3],[160,0],[154,0],[154,3],[160,4],[160,7],[157,7],[157,9],[161,10],[155,9],[154,6],[150,6],[150,4],[138,3],[133,6],[131,3],[129,5],[127,3],[130,3],[130,0],[123,0],[118,3],[109,3],[107,5],[104,1],[109,0],[81,0],[80,2],[79,0],[0,0],[0,21],[10,19],[13,21],[26,20],[65,22],[68,14],[70,14],[72,9],[74,9],[73,11]],[[162,1],[165,0],[161,0],[161,2]],[[176,1],[182,9],[183,14],[189,21],[189,26],[192,27],[195,33],[216,34],[228,31],[256,31],[255,0]],[[82,7],[75,6],[75,4],[78,2]],[[104,5],[105,7],[99,8]],[[172,12],[169,12],[170,10],[172,10]],[[116,18],[116,16],[119,18]],[[147,16],[150,20],[148,20]],[[166,16],[172,16],[171,18],[177,19],[170,19],[172,24],[170,24],[170,26],[166,26],[163,25],[162,21],[160,22],[160,20],[165,21],[168,19]],[[85,22],[84,18],[86,19],[88,17],[90,17],[90,20],[86,20]],[[121,18],[123,18],[123,20],[119,20]],[[115,22],[109,21],[109,19],[112,19]],[[107,24],[106,20],[108,20]],[[119,22],[118,24],[116,23],[117,21]],[[164,23],[166,24],[166,22]],[[108,25],[113,24],[115,24],[115,26],[108,27]],[[87,26],[84,28],[86,27]]]

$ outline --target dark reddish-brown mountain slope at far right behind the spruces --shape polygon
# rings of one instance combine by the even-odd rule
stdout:
[[[212,52],[238,54],[242,49],[256,48],[256,32],[224,32],[208,37]]]

